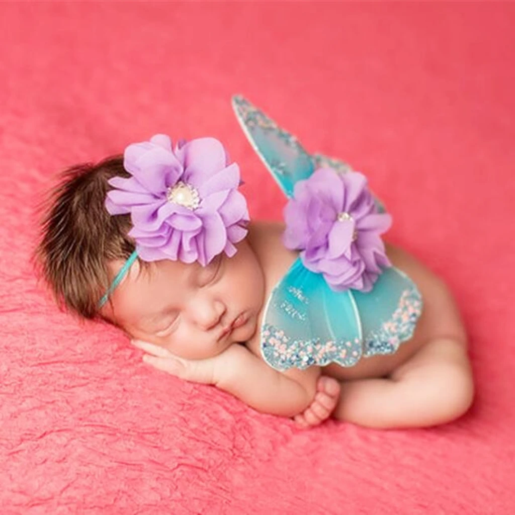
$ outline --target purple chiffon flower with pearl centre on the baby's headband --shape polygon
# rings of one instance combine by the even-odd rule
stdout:
[[[113,177],[106,198],[112,215],[130,213],[129,236],[144,261],[198,261],[220,252],[232,256],[247,235],[249,214],[237,191],[239,167],[228,164],[224,146],[199,138],[172,149],[165,134],[125,149],[129,178]]]

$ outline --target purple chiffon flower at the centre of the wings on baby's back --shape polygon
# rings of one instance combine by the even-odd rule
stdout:
[[[335,291],[370,291],[381,267],[391,266],[380,237],[391,216],[378,212],[363,174],[317,169],[296,183],[284,216],[284,245],[301,250],[304,266]]]

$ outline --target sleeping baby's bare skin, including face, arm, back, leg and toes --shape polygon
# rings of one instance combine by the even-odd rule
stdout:
[[[260,352],[265,301],[297,258],[284,226],[256,222],[232,258],[198,263],[136,261],[102,315],[146,351],[144,361],[187,381],[212,384],[262,413],[300,427],[332,416],[374,428],[432,426],[464,414],[473,398],[467,337],[447,286],[386,244],[391,263],[418,286],[423,311],[413,338],[391,355],[353,367],[330,364],[284,372]],[[114,274],[122,262],[110,264]]]

